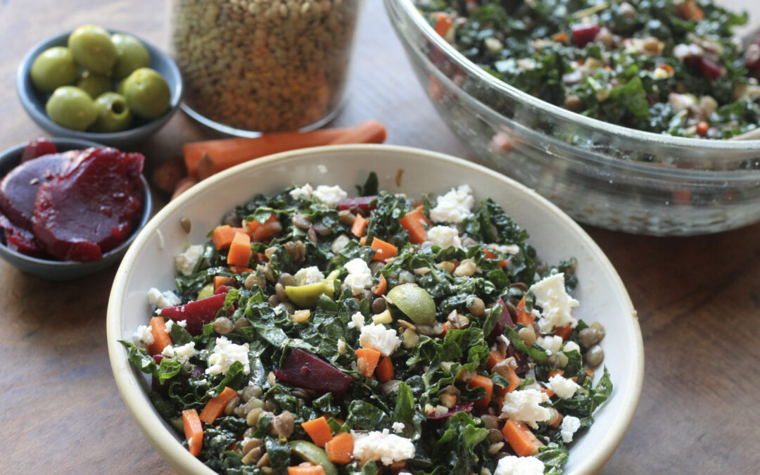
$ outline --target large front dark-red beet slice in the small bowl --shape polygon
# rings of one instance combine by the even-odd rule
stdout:
[[[32,230],[47,252],[97,261],[123,242],[142,207],[144,160],[113,148],[83,150],[65,173],[40,185]]]

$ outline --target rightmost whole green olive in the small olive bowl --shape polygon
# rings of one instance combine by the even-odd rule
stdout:
[[[129,74],[119,84],[119,93],[124,95],[132,112],[144,119],[153,119],[166,112],[172,98],[169,84],[150,68],[139,68]]]

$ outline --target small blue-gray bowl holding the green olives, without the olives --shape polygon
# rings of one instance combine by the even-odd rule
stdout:
[[[111,31],[111,33],[124,32]],[[174,113],[177,112],[179,101],[182,99],[182,75],[179,74],[179,68],[177,68],[176,63],[169,57],[169,55],[161,52],[156,46],[147,43],[147,41],[142,38],[138,38],[150,54],[150,68],[154,68],[156,71],[160,72],[163,78],[166,79],[166,84],[169,84],[169,90],[172,93],[169,109],[166,110],[162,116],[150,120],[135,117],[135,122],[132,124],[132,128],[112,133],[81,132],[71,130],[71,128],[62,127],[61,125],[52,122],[45,112],[45,104],[49,94],[40,93],[34,88],[30,71],[34,59],[36,59],[41,52],[48,48],[52,48],[53,46],[66,46],[69,34],[71,34],[70,31],[51,36],[47,40],[37,43],[30,52],[24,56],[24,59],[21,60],[21,65],[18,66],[16,74],[16,91],[18,93],[18,98],[21,100],[21,105],[24,106],[24,109],[32,120],[36,122],[37,125],[40,125],[43,130],[47,131],[54,137],[79,138],[81,140],[106,144],[110,147],[130,148],[140,144],[146,138],[150,137],[150,135],[154,135],[166,124],[166,122],[169,121],[169,119],[171,119]]]

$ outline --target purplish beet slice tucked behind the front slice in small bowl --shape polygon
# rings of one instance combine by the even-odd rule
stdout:
[[[79,150],[71,150],[63,154],[45,155],[27,160],[12,169],[0,182],[0,211],[11,223],[31,230],[34,200],[40,185],[64,173],[79,154]]]

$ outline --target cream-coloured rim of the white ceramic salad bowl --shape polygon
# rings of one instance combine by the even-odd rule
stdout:
[[[182,448],[182,445],[176,440],[176,435],[169,432],[169,430],[163,425],[162,420],[156,415],[152,404],[150,404],[146,394],[144,394],[143,388],[141,385],[138,385],[135,372],[127,361],[125,349],[118,341],[119,338],[122,338],[122,314],[120,309],[122,307],[122,302],[127,298],[125,295],[125,286],[128,282],[128,277],[131,274],[131,268],[134,266],[136,258],[140,255],[142,249],[148,244],[150,237],[158,230],[161,223],[168,219],[168,217],[176,210],[179,210],[179,208],[186,202],[201,195],[207,190],[207,188],[211,188],[214,185],[217,185],[217,183],[223,182],[228,177],[280,160],[308,160],[309,157],[314,154],[352,154],[366,150],[377,150],[378,152],[387,154],[400,154],[410,158],[425,157],[426,159],[454,163],[458,166],[464,166],[479,173],[486,174],[493,179],[497,179],[505,184],[518,188],[519,191],[524,192],[529,195],[530,198],[537,201],[537,205],[546,208],[546,210],[554,214],[557,219],[562,220],[567,226],[570,226],[571,229],[578,234],[581,242],[583,242],[594,255],[597,255],[600,265],[605,271],[604,277],[612,280],[614,286],[619,289],[619,293],[622,296],[622,304],[629,311],[635,349],[634,354],[631,355],[634,364],[633,371],[628,375],[630,389],[627,393],[621,394],[621,396],[624,397],[622,410],[616,414],[611,423],[610,435],[606,437],[606,439],[600,441],[599,445],[597,445],[597,449],[591,457],[582,461],[575,473],[595,473],[600,470],[622,441],[622,438],[633,419],[639,398],[641,397],[641,389],[644,379],[644,344],[641,337],[641,328],[638,324],[638,315],[636,314],[630,296],[627,290],[625,290],[625,286],[615,271],[615,268],[613,268],[610,260],[604,255],[596,242],[591,239],[591,236],[588,236],[578,223],[575,223],[575,221],[568,217],[567,214],[559,210],[559,207],[556,207],[556,205],[538,195],[537,192],[534,192],[532,189],[527,188],[515,180],[509,179],[492,169],[488,169],[484,166],[471,163],[458,157],[452,157],[448,154],[441,154],[439,152],[422,150],[419,148],[402,147],[397,145],[328,145],[325,147],[290,150],[242,163],[217,173],[216,175],[205,179],[198,185],[188,189],[188,191],[182,193],[179,198],[170,201],[166,207],[163,207],[163,209],[160,210],[146,226],[144,226],[135,239],[135,242],[131,245],[130,249],[128,249],[126,255],[122,259],[122,263],[119,265],[119,270],[116,272],[116,277],[114,277],[106,312],[106,335],[108,339],[109,360],[114,378],[116,379],[116,386],[119,388],[122,399],[132,417],[135,418],[135,422],[140,427],[141,432],[143,432],[146,439],[164,458],[166,458],[166,461],[176,469],[190,473],[214,473],[211,469],[202,464],[201,461],[198,461],[197,458],[193,457],[187,450],[185,450],[185,448]]]

